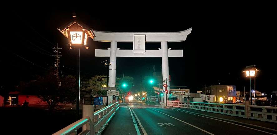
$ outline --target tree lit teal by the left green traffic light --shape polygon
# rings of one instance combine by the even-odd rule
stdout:
[[[134,78],[130,76],[124,76],[122,79],[119,79],[117,81],[121,84],[117,86],[117,89],[120,96],[122,97],[121,99],[123,99],[123,103],[125,103],[127,92],[130,91],[130,89],[133,87]],[[123,86],[123,84],[126,84],[126,86]]]

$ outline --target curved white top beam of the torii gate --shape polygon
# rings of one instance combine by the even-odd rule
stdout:
[[[188,34],[190,34],[192,28],[179,32],[107,32],[107,31],[95,31],[93,38],[94,41],[100,42],[133,42],[134,35],[146,35],[146,42],[181,42],[185,41]]]

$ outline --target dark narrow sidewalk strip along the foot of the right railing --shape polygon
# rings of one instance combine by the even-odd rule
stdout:
[[[161,106],[165,107],[165,106]],[[260,130],[269,130],[273,129],[275,130],[274,132],[277,133],[277,124],[276,123],[271,123],[271,122],[263,122],[260,120],[255,120],[255,119],[247,119],[247,118],[241,118],[237,116],[230,116],[230,115],[224,115],[224,114],[219,114],[219,113],[212,113],[212,112],[206,112],[206,111],[200,111],[200,110],[194,110],[194,109],[188,109],[188,108],[177,108],[177,107],[171,107],[171,106],[166,106],[166,108],[174,108],[174,109],[179,109],[179,110],[184,110],[196,115],[202,115],[205,117],[210,117],[210,118],[215,118],[215,119],[220,119],[223,121],[228,121],[231,123],[236,123],[239,125],[243,125],[246,127],[251,127],[255,129],[260,129]],[[271,131],[273,131],[271,130]]]

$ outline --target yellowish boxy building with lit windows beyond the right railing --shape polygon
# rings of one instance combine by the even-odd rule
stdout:
[[[205,88],[202,88],[202,94],[205,94]],[[206,95],[215,95],[216,103],[236,103],[236,86],[212,85],[206,87]]]

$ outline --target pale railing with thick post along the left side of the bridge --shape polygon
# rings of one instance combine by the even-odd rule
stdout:
[[[119,108],[119,102],[110,104],[96,112],[93,105],[83,106],[83,118],[68,125],[52,135],[77,135],[77,129],[83,128],[79,135],[99,135],[110,122]]]

